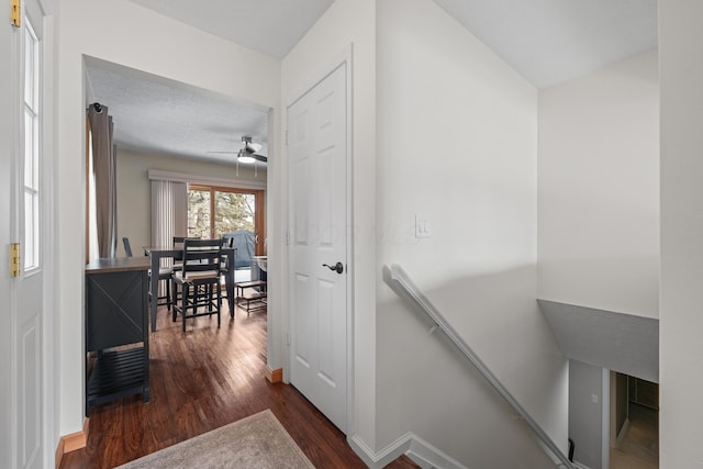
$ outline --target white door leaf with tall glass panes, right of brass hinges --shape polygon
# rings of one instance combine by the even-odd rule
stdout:
[[[15,31],[18,58],[23,66],[16,70],[18,105],[12,107],[13,129],[16,135],[15,150],[12,153],[12,183],[4,186],[9,191],[11,228],[13,242],[21,242],[21,273],[10,280],[10,314],[13,325],[11,334],[13,349],[12,402],[12,466],[19,468],[41,468],[44,465],[44,406],[42,404],[43,383],[43,293],[44,257],[41,252],[42,235],[46,231],[42,200],[44,196],[41,148],[42,123],[44,119],[42,90],[43,16],[36,1],[27,0],[24,11],[32,11],[31,20],[23,15],[22,26]]]

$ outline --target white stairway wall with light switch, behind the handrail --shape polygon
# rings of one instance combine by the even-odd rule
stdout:
[[[433,1],[377,4],[377,448],[414,432],[470,468],[548,467],[380,278],[403,266],[566,454],[567,362],[535,302],[537,90]]]

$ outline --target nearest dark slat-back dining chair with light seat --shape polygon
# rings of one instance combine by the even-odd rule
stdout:
[[[180,289],[180,302],[174,303],[172,321],[176,322],[180,314],[186,332],[186,320],[216,314],[220,327],[222,241],[186,238],[182,257],[180,269],[174,272],[175,284]],[[204,312],[198,312],[199,308]]]

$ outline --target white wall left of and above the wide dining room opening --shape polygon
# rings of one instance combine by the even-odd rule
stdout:
[[[83,55],[272,109],[279,108],[280,63],[126,0],[62,0],[55,10],[57,391],[66,435],[81,429],[83,416]],[[275,113],[271,132],[278,130]]]

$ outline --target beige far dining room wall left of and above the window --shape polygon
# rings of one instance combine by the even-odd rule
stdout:
[[[255,177],[252,167],[242,165],[237,177],[234,163],[202,161],[118,149],[118,256],[124,253],[123,236],[130,238],[135,256],[142,255],[142,246],[152,244],[149,169],[266,187],[266,171],[261,169]]]

